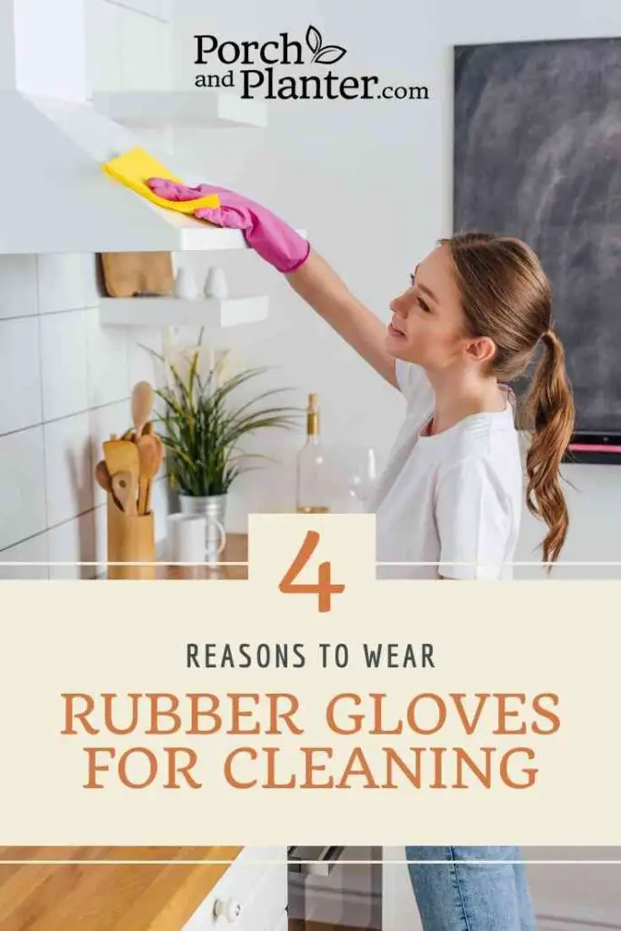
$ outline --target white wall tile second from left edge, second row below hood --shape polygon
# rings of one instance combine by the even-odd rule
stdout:
[[[44,420],[88,409],[86,315],[40,317]]]

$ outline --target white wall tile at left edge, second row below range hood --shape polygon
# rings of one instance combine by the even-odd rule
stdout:
[[[40,424],[41,372],[37,317],[0,320],[0,434]]]

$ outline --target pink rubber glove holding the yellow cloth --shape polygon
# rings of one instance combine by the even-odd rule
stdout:
[[[201,207],[196,210],[195,216],[218,226],[241,230],[250,248],[279,272],[294,272],[308,258],[310,244],[306,239],[270,210],[235,191],[211,184],[187,187],[164,178],[149,178],[147,184],[157,196],[165,200],[196,200],[197,197],[217,194],[221,206]]]

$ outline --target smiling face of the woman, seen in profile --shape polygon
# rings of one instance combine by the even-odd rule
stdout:
[[[416,266],[410,288],[391,302],[390,309],[386,347],[392,356],[429,371],[466,359],[466,321],[446,246]]]

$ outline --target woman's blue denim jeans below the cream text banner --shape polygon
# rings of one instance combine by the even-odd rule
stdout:
[[[485,862],[519,860],[519,847],[406,847],[405,852],[425,931],[534,931],[523,863]],[[472,860],[480,863],[466,862]]]

